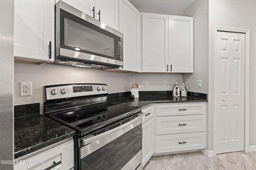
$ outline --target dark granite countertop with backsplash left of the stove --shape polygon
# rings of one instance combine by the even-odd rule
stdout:
[[[14,158],[74,135],[73,129],[39,114],[39,103],[14,106]]]

